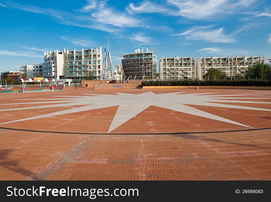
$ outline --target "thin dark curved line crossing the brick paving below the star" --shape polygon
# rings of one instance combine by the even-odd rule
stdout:
[[[5,130],[17,130],[35,133],[59,133],[59,134],[77,134],[77,135],[180,135],[180,134],[200,134],[200,133],[228,133],[228,132],[242,132],[242,131],[254,131],[254,130],[264,130],[269,128],[259,128],[259,129],[244,129],[244,130],[224,130],[224,131],[204,131],[204,132],[191,132],[191,133],[79,133],[79,132],[56,132],[56,131],[42,131],[42,130],[27,130],[27,129],[14,129],[0,127],[0,129]]]

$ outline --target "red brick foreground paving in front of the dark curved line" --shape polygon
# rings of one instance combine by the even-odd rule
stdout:
[[[0,180],[270,180],[270,133],[82,139],[0,129]]]

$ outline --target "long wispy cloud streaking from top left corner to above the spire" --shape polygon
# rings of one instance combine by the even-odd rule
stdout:
[[[47,9],[37,6],[27,6],[14,2],[6,2],[5,6],[13,9],[24,10],[50,16],[60,24],[91,28],[112,33],[118,33],[119,27],[141,26],[140,21],[125,13],[111,10],[106,7],[107,1],[88,1],[80,11],[70,12],[67,10]],[[93,10],[95,9],[95,10]],[[93,12],[94,11],[94,12]]]

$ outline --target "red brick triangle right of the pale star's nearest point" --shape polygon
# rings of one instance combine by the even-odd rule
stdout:
[[[248,129],[240,125],[150,106],[110,133],[192,133],[227,131],[233,128]]]

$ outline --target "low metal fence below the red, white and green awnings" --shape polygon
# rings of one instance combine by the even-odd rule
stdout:
[[[54,91],[63,90],[63,85],[50,86],[42,85],[5,85],[0,87],[0,93],[18,93],[18,92],[38,92],[38,91]]]

